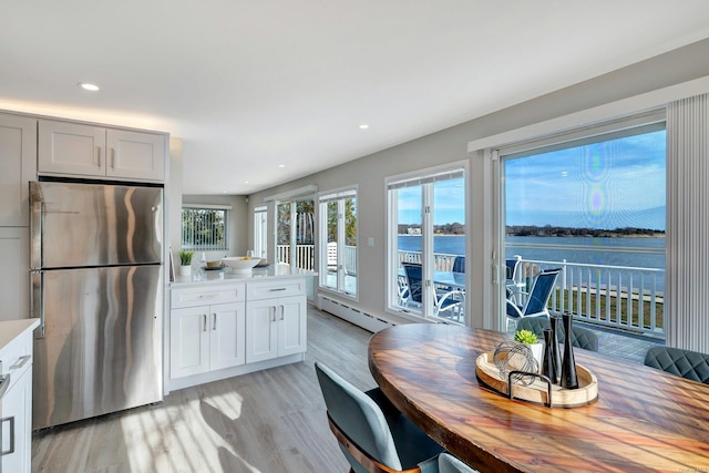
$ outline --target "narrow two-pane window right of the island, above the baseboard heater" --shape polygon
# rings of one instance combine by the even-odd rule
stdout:
[[[320,287],[356,297],[357,189],[320,195]]]

